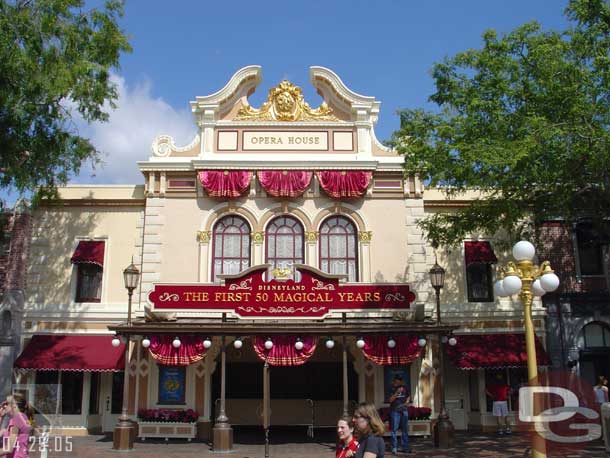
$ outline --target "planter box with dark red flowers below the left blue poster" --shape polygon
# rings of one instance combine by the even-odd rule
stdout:
[[[194,439],[199,414],[192,409],[140,409],[138,411],[138,437]]]

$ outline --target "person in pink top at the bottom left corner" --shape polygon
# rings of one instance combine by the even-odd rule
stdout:
[[[32,432],[30,421],[34,417],[34,411],[20,393],[8,396],[6,401],[11,419],[8,423],[8,431],[5,433],[6,439],[3,437],[2,440],[0,457],[28,458],[30,433]]]

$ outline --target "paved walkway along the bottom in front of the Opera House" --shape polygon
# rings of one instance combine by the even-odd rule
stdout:
[[[322,434],[316,439],[295,436],[294,434],[277,433],[272,436],[270,446],[270,458],[331,458],[334,457],[334,443],[332,434]],[[319,435],[320,436],[320,435]],[[235,435],[235,446],[233,451],[222,454],[231,458],[263,458],[264,444],[261,434]],[[527,458],[530,457],[529,439],[525,435],[514,434],[510,437],[497,437],[493,434],[458,433],[456,434],[456,447],[449,450],[438,450],[432,447],[430,439],[412,438],[411,445],[413,453],[410,455],[399,454],[399,458]],[[389,443],[387,443],[389,448]],[[61,447],[61,450],[59,448]],[[207,458],[218,457],[219,453],[213,453],[210,445],[204,442],[186,442],[173,440],[136,442],[134,450],[130,452],[118,452],[112,450],[112,440],[104,436],[88,436],[72,438],[72,450],[68,451],[65,438],[51,438],[51,451],[49,458],[116,458],[117,456],[128,456],[129,458]],[[38,458],[38,452],[31,452],[30,457]],[[386,457],[392,458],[392,454],[386,452]],[[547,450],[547,456],[561,458],[608,458],[603,443],[596,441],[589,443],[586,448],[579,451],[566,453],[565,451]]]

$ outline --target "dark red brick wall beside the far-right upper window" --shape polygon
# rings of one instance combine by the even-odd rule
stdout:
[[[548,260],[561,280],[559,293],[602,293],[607,291],[604,277],[582,277],[578,281],[572,226],[547,222],[541,230],[538,259]]]

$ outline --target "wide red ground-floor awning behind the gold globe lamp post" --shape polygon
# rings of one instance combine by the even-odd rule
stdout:
[[[525,334],[476,334],[455,336],[455,346],[446,345],[447,355],[459,369],[526,367]],[[544,347],[536,337],[539,366],[550,365]]]

